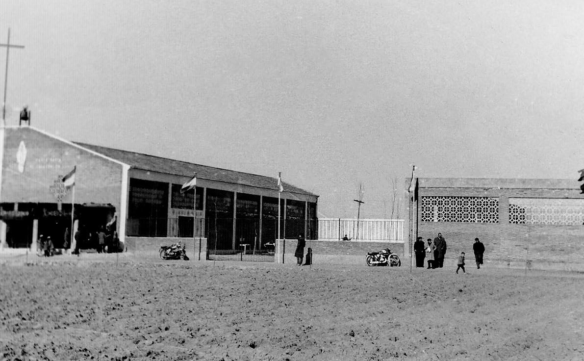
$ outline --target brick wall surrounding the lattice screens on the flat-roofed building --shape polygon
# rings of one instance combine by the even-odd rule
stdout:
[[[481,196],[499,198],[499,223],[449,223],[421,222],[418,235],[434,238],[442,232],[448,245],[446,259],[454,259],[464,251],[467,260],[474,260],[472,244],[478,237],[485,245],[485,262],[524,262],[526,256],[535,263],[584,263],[580,255],[580,242],[584,240],[583,225],[531,225],[509,223],[509,198],[559,198],[580,199],[578,185],[574,188],[566,180],[517,180],[499,188],[496,179],[485,188],[471,188],[472,182],[466,180],[465,187],[423,188],[420,180],[419,196]],[[515,180],[513,180],[515,181]],[[436,183],[437,180],[432,180]],[[426,182],[426,185],[431,183]],[[456,184],[454,182],[453,184]],[[480,183],[480,182],[477,182]],[[503,182],[505,183],[505,182]],[[568,184],[568,186],[566,186]],[[435,184],[434,184],[435,185]],[[496,186],[496,187],[495,187]],[[521,188],[529,187],[529,188]],[[493,188],[494,187],[494,188]],[[421,214],[421,212],[420,212]],[[526,255],[526,248],[527,252]],[[581,268],[581,267],[580,267]]]

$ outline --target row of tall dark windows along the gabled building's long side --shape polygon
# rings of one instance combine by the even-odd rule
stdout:
[[[193,217],[194,210],[203,210],[204,189],[197,187],[180,193],[181,185],[171,186],[171,208],[175,216],[169,216],[168,183],[142,179],[130,179],[128,199],[128,235],[142,237],[193,237],[201,235],[217,242],[218,249],[251,242],[265,244],[278,238],[317,237],[317,204],[297,200],[281,200],[280,227],[278,227],[278,199],[259,195],[235,193],[207,188],[205,213]],[[235,204],[235,221],[234,221]],[[307,212],[308,206],[308,212]],[[284,208],[285,207],[285,208]],[[188,210],[188,211],[187,211]],[[260,210],[262,219],[260,220]],[[196,214],[196,213],[195,213]],[[260,229],[261,228],[261,229]],[[259,238],[262,239],[259,239]]]

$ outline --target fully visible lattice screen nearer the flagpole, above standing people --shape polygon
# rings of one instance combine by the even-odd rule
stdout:
[[[420,197],[422,222],[499,223],[496,197]]]

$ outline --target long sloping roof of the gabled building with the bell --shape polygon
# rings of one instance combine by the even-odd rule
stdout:
[[[73,142],[81,147],[106,155],[130,165],[131,168],[144,171],[161,172],[173,175],[192,177],[197,172],[197,179],[215,180],[218,182],[233,183],[237,185],[252,186],[265,189],[277,190],[277,178],[256,175],[251,173],[230,171],[229,169],[215,168],[213,166],[193,164],[189,162],[177,161],[175,159],[157,157],[155,155],[142,154],[137,152],[124,151],[113,148],[100,147],[86,143]],[[301,195],[317,196],[307,190],[295,187],[290,183],[282,182],[284,190]]]

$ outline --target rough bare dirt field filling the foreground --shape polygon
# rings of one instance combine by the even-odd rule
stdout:
[[[0,266],[0,360],[584,359],[582,274],[101,257]]]

